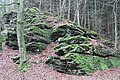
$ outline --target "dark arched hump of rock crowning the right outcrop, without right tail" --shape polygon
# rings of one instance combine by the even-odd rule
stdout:
[[[72,24],[66,24],[66,25],[59,26],[58,28],[53,30],[51,39],[53,41],[56,41],[60,37],[64,37],[68,35],[70,36],[82,35],[83,33],[85,32],[81,28],[76,27],[75,25],[72,25]]]

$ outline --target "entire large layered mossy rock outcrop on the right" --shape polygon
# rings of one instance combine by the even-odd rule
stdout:
[[[52,40],[58,43],[55,47],[55,54],[58,58],[48,59],[47,64],[57,71],[66,74],[88,75],[96,70],[120,66],[120,52],[115,52],[103,43],[94,31],[66,24],[52,32]],[[70,67],[63,67],[63,64],[67,66],[68,63],[73,70],[76,70],[76,73],[69,70]]]

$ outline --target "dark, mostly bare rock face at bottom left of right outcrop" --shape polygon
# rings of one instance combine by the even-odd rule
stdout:
[[[78,67],[78,64],[70,59],[60,59],[59,57],[48,57],[46,64],[58,72],[69,75],[85,75],[85,72]]]

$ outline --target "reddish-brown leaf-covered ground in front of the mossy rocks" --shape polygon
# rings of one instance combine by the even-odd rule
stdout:
[[[45,60],[48,56],[56,56],[53,50],[55,46],[55,43],[50,43],[41,54],[29,54],[31,67],[25,73],[15,71],[17,65],[11,59],[18,51],[4,47],[0,53],[0,80],[120,80],[120,68],[96,71],[91,76],[67,75],[53,70],[45,64]]]

